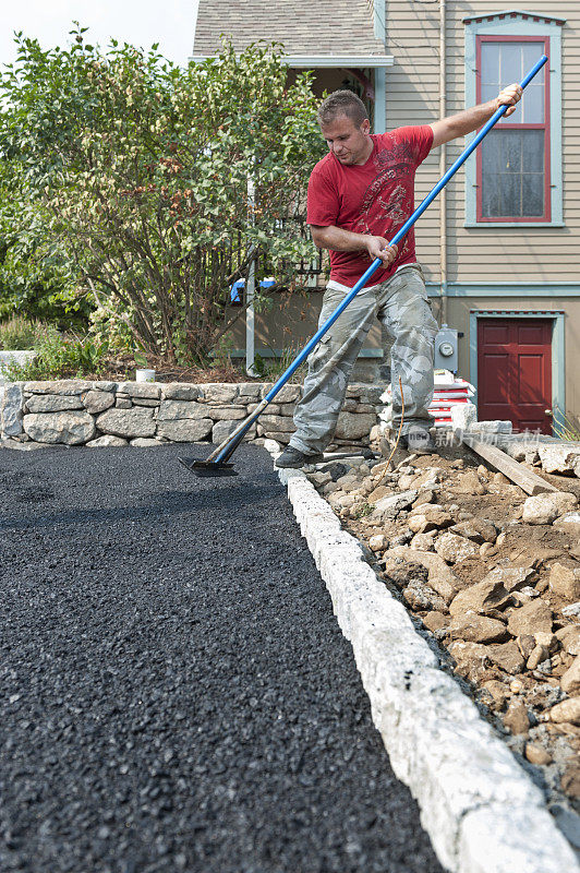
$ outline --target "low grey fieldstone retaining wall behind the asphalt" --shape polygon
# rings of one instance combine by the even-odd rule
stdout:
[[[222,442],[252,412],[273,383],[12,382],[0,409],[5,447],[39,445],[158,445]],[[300,385],[285,385],[246,440],[288,443]],[[378,385],[352,384],[334,445],[367,445],[382,408]]]

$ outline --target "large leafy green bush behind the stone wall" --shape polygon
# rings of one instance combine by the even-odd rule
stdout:
[[[275,45],[181,69],[156,46],[104,55],[83,32],[68,49],[20,37],[0,79],[0,156],[72,297],[76,282],[96,306],[95,336],[112,326],[146,352],[207,360],[254,260],[292,282],[314,255],[301,236],[324,152],[310,74],[289,84]]]

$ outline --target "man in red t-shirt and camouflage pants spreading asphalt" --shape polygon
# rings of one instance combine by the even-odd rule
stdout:
[[[391,356],[392,424],[402,444],[430,452],[433,419],[433,340],[437,323],[427,302],[423,272],[415,259],[414,230],[400,247],[388,239],[414,208],[414,177],[432,148],[478,130],[499,106],[515,110],[519,85],[457,116],[421,127],[371,134],[362,100],[337,91],[324,100],[318,122],[329,153],[309,182],[307,222],[315,244],[330,250],[330,280],[318,325],[324,324],[372,261],[377,270],[309,357],[302,399],[294,412],[295,433],[278,457],[278,467],[302,467],[322,459],[331,441],[350,373],[375,319],[394,339]],[[402,383],[402,398],[399,388]]]

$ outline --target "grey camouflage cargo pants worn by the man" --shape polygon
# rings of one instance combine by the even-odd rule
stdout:
[[[329,283],[318,326],[346,294]],[[409,264],[387,282],[360,291],[310,355],[290,445],[311,454],[323,452],[331,442],[349,376],[375,319],[395,340],[390,350],[394,426],[398,428],[401,421],[400,376],[404,398],[402,432],[416,424],[431,427],[433,347],[438,328],[427,302],[423,272],[419,264]]]

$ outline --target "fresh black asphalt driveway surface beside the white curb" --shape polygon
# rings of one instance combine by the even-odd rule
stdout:
[[[0,870],[442,873],[269,455],[0,451]]]

